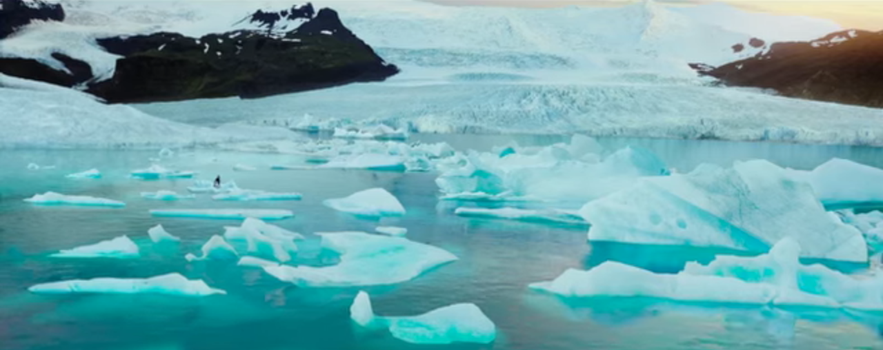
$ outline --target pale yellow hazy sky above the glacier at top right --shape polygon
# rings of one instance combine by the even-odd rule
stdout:
[[[505,5],[505,6],[562,6],[627,3],[629,0],[430,0],[446,4]],[[703,2],[691,0],[659,0],[669,3]],[[883,0],[830,1],[830,0],[723,0],[740,7],[773,13],[805,15],[828,18],[848,28],[883,30]]]

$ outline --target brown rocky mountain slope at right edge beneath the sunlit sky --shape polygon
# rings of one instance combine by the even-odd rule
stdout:
[[[883,32],[847,30],[810,42],[781,42],[720,67],[692,64],[726,85],[789,97],[883,108]]]

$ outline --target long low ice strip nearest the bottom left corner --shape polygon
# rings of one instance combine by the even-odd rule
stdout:
[[[208,296],[227,294],[209,287],[202,280],[188,280],[177,273],[151,278],[94,278],[43,283],[28,288],[31,293],[67,294],[165,294],[177,296]]]

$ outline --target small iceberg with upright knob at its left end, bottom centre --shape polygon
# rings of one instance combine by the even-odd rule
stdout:
[[[497,329],[475,304],[454,304],[417,316],[374,315],[371,298],[360,291],[350,306],[350,318],[367,328],[388,329],[393,337],[413,344],[490,344]]]

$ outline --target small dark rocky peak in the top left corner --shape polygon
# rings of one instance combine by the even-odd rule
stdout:
[[[0,39],[32,21],[63,21],[61,5],[40,0],[0,0]]]

